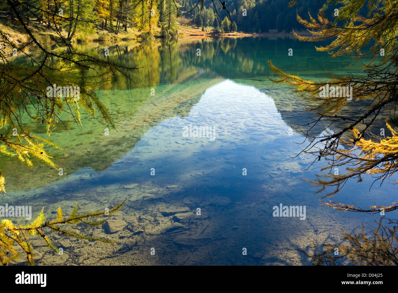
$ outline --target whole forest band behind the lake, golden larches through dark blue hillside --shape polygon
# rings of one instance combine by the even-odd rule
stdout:
[[[44,29],[60,29],[70,41],[76,32],[90,35],[96,30],[117,35],[135,29],[143,36],[160,31],[162,37],[176,37],[178,23],[210,27],[215,33],[291,31],[304,29],[296,20],[297,13],[315,15],[322,7],[309,0],[299,0],[294,7],[289,7],[289,0],[232,0],[223,4],[214,0],[27,0],[16,10],[28,26],[36,22]],[[0,2],[0,11],[11,23],[16,19],[8,1]]]

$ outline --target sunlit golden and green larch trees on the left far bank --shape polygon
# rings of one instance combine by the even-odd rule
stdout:
[[[68,41],[75,34],[91,35],[98,30],[115,35],[129,29],[153,34],[161,28],[164,35],[177,33],[178,4],[173,0],[27,0],[20,5],[3,0],[0,12],[8,25],[21,18],[26,26],[66,33]]]

